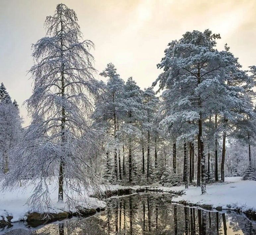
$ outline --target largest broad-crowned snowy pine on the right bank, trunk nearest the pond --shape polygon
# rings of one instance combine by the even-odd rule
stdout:
[[[223,91],[225,69],[232,62],[230,55],[214,48],[218,38],[220,35],[212,34],[210,30],[192,31],[186,32],[180,40],[169,43],[165,57],[158,65],[164,71],[153,83],[156,85],[160,81],[160,89],[167,89],[165,96],[169,93],[168,101],[173,109],[169,123],[179,117],[182,117],[181,122],[197,121],[202,193],[206,193],[202,124],[204,118],[212,114],[213,106],[221,104],[215,98]]]

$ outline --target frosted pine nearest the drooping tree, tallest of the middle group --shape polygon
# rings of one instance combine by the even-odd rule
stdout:
[[[123,100],[124,95],[124,81],[120,78],[119,74],[116,73],[116,69],[112,63],[107,64],[104,71],[100,73],[101,76],[107,77],[107,83],[104,87],[104,91],[98,97],[95,105],[95,112],[93,117],[96,125],[104,129],[104,132],[109,135],[106,138],[111,142],[113,147],[112,153],[114,153],[114,174],[115,180],[122,179],[121,174],[121,159],[120,159],[120,127],[122,123],[122,116],[125,112],[125,103]],[[110,138],[112,137],[112,139]],[[110,154],[110,143],[106,143],[108,146],[106,155],[107,161],[109,160]],[[118,164],[117,164],[118,156]],[[109,164],[107,163],[109,166]],[[119,166],[119,167],[118,167]],[[109,169],[108,169],[109,170]]]

